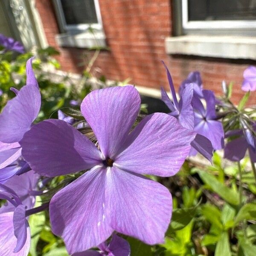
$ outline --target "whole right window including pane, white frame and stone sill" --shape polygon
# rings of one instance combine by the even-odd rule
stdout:
[[[168,54],[256,60],[256,0],[172,0]]]

